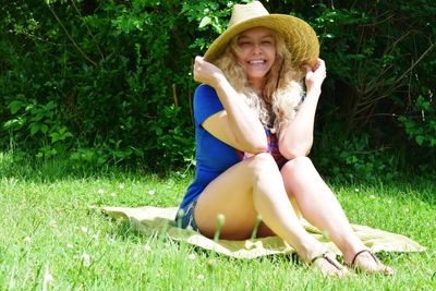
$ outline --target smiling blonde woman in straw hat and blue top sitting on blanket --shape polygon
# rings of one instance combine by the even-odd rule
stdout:
[[[326,68],[314,31],[303,21],[269,14],[261,2],[234,5],[229,28],[197,57],[196,175],[179,223],[208,238],[279,235],[325,275],[347,272],[301,226],[299,213],[326,231],[347,265],[393,271],[354,234],[341,206],[306,157]],[[302,81],[305,97],[302,99]]]

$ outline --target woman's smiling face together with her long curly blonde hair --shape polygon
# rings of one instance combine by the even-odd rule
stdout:
[[[214,63],[272,132],[280,122],[293,119],[303,96],[303,74],[292,65],[280,34],[267,27],[244,31]]]

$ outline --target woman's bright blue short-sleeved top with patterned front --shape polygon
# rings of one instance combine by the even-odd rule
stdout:
[[[180,205],[182,209],[185,209],[190,203],[196,199],[215,178],[244,158],[244,153],[219,141],[202,126],[207,118],[223,109],[213,87],[203,84],[196,88],[194,94],[196,171],[194,181],[187,187]],[[281,168],[287,159],[280,155],[277,137],[269,129],[266,129],[266,134],[268,140],[267,153],[272,155],[279,168]]]

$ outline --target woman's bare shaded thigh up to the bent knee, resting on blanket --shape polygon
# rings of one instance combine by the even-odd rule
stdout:
[[[217,216],[222,214],[225,223],[220,231],[221,239],[250,238],[257,216],[253,185],[259,174],[280,174],[274,167],[277,168],[270,155],[259,154],[232,166],[210,182],[195,206],[195,222],[199,231],[213,238]]]

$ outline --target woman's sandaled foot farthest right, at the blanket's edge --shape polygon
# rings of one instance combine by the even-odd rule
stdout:
[[[370,250],[362,250],[355,253],[351,263],[346,265],[367,274],[393,275],[393,269],[384,265]]]

